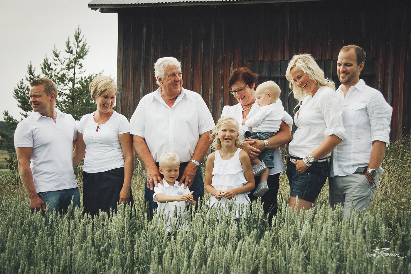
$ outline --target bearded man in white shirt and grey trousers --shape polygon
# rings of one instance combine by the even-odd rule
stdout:
[[[337,75],[341,86],[337,97],[342,106],[342,123],[347,135],[332,153],[330,161],[330,206],[344,207],[350,215],[351,199],[360,211],[367,209],[382,174],[381,163],[390,142],[393,108],[381,92],[360,80],[365,51],[356,45],[344,46],[338,55]]]

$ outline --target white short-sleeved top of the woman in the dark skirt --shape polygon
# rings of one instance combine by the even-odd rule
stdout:
[[[83,171],[96,173],[124,167],[118,135],[130,132],[127,118],[114,111],[109,121],[98,125],[93,116],[94,112],[85,114],[79,123],[79,132],[83,134],[85,144]]]

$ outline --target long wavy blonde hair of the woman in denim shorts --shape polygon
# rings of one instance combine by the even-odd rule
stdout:
[[[304,90],[301,87],[297,86],[297,84],[293,81],[293,78],[291,77],[291,70],[294,67],[297,67],[299,70],[302,70],[302,72],[307,74],[307,77],[313,80],[319,88],[328,86],[335,91],[334,82],[330,79],[325,78],[323,70],[321,70],[321,68],[317,65],[312,55],[294,55],[293,58],[291,58],[290,63],[288,64],[285,77],[290,82],[290,88],[293,90],[294,98],[298,100],[298,105],[301,104],[301,101],[308,93],[305,93]]]

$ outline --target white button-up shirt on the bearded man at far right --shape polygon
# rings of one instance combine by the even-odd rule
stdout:
[[[341,100],[342,123],[347,135],[334,149],[330,161],[330,177],[353,174],[358,167],[367,166],[374,141],[390,143],[390,123],[393,108],[381,92],[367,86],[364,80],[349,88]]]

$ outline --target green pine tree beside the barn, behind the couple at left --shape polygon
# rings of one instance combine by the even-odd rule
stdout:
[[[91,99],[88,87],[90,82],[98,74],[85,75],[82,61],[87,56],[89,47],[86,39],[81,35],[80,26],[74,31],[74,40],[70,42],[70,37],[67,38],[66,48],[64,53],[53,48],[52,60],[49,60],[47,55],[43,63],[40,65],[42,72],[36,74],[35,67],[32,63],[27,67],[27,75],[25,80],[21,79],[14,88],[13,97],[18,102],[18,107],[22,109],[20,113],[23,117],[28,117],[32,111],[29,103],[30,81],[41,77],[51,79],[57,86],[58,94],[55,106],[62,112],[71,114],[77,121],[87,114],[95,111],[97,106],[95,101]],[[14,132],[18,121],[9,115],[5,110],[3,112],[3,120],[7,123],[10,130]],[[2,132],[7,135],[7,132]],[[6,137],[13,139],[13,134]],[[10,143],[10,144],[9,144]],[[9,151],[15,151],[12,142],[4,142],[5,148]]]

